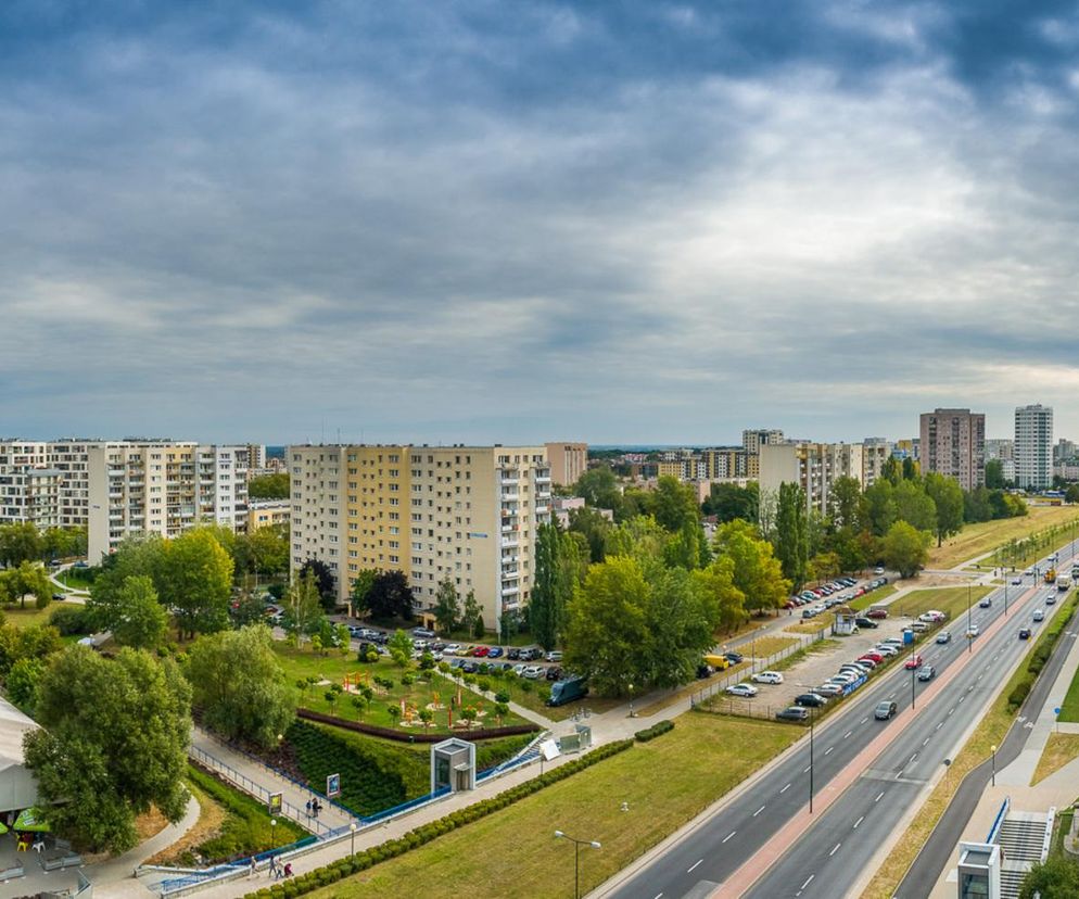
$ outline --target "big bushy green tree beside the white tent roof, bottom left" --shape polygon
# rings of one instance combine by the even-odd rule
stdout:
[[[190,697],[168,658],[124,648],[111,660],[78,645],[58,654],[38,682],[41,729],[23,739],[52,831],[85,850],[123,852],[151,806],[179,821]]]

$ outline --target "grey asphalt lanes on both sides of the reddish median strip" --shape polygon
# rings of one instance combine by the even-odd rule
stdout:
[[[1069,568],[1070,544],[1061,550],[1061,565]],[[1042,568],[1044,570],[1044,567]],[[995,693],[1012,666],[1026,649],[1016,638],[1019,621],[1030,622],[1030,612],[1055,588],[1031,592],[1033,579],[1024,578],[1026,600],[1012,602],[1019,587],[1008,587],[1007,625],[981,646],[976,664],[967,668],[918,714],[862,775],[822,815],[822,820],[754,884],[748,895],[762,899],[779,897],[842,896],[861,876],[880,843],[903,816],[925,782],[952,751],[961,735],[980,714],[987,695]],[[986,629],[1004,613],[1004,588],[992,594],[989,609],[975,607],[972,622]],[[1052,607],[1052,608],[1058,608]],[[1044,625],[1036,625],[1036,632]],[[967,651],[963,632],[966,621],[957,618],[948,645],[919,647],[926,660],[943,672]],[[899,668],[868,689],[846,700],[846,708],[828,720],[814,739],[813,783],[820,792],[880,732],[886,722],[873,718],[873,709],[885,698],[910,702],[928,684],[913,681]],[[916,701],[916,699],[915,699]],[[620,899],[676,899],[706,896],[759,850],[809,800],[810,751],[799,752],[774,764],[756,784],[701,826],[672,846],[661,857],[623,882],[611,896]]]

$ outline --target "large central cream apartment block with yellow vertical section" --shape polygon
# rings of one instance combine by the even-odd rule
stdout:
[[[450,578],[484,624],[528,605],[550,520],[544,446],[290,446],[291,569],[325,561],[345,603],[364,569],[402,571],[419,607]]]

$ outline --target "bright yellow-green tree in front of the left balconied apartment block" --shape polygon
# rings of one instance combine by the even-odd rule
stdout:
[[[174,611],[181,636],[228,626],[232,558],[207,529],[195,528],[164,544],[154,584],[161,602]]]

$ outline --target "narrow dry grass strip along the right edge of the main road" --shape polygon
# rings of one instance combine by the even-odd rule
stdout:
[[[1068,608],[1063,608],[1059,613],[1068,615]],[[1048,633],[1049,631],[1042,634],[1038,641],[1033,642],[1033,645],[1023,657],[1018,668],[1016,668],[1015,673],[1012,674],[1008,682],[997,694],[997,698],[993,699],[989,711],[986,712],[986,716],[978,723],[970,738],[952,761],[947,776],[938,782],[937,786],[929,794],[929,798],[926,799],[925,805],[918,809],[914,822],[906,828],[906,833],[903,834],[884,864],[877,870],[877,873],[862,894],[862,899],[890,899],[894,895],[900,881],[903,879],[907,870],[914,863],[914,859],[922,851],[922,847],[925,846],[929,834],[932,833],[932,828],[937,826],[937,822],[944,813],[944,809],[948,808],[963,778],[988,759],[992,755],[992,747],[999,746],[1004,739],[1016,716],[1016,711],[1008,705],[1008,694],[1028,676],[1027,663]]]

